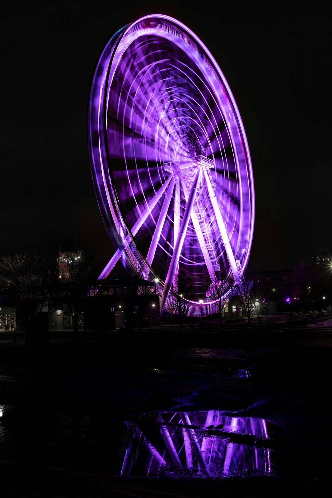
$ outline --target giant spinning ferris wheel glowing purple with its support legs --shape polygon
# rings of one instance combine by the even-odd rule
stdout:
[[[166,15],[119,29],[97,64],[88,127],[97,200],[117,247],[100,278],[122,258],[157,281],[160,311],[175,308],[179,268],[199,297],[221,274],[238,278],[253,236],[251,159],[202,41]],[[216,310],[211,299],[203,305]],[[188,314],[201,311],[188,301]]]

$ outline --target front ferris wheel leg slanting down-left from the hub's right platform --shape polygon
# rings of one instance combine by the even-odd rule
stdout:
[[[183,247],[183,243],[184,243],[186,233],[187,233],[187,228],[189,225],[191,211],[193,209],[194,202],[196,199],[197,187],[198,187],[198,182],[199,182],[199,179],[201,176],[201,170],[202,170],[201,167],[199,167],[197,169],[197,173],[196,173],[193,185],[190,189],[188,202],[187,202],[186,210],[185,210],[184,215],[183,215],[180,232],[179,232],[176,244],[175,244],[172,259],[171,259],[171,262],[170,262],[170,265],[168,268],[168,272],[167,272],[167,276],[166,276],[166,280],[165,280],[164,290],[163,290],[163,294],[162,294],[161,301],[160,301],[160,313],[164,309],[166,299],[168,297],[169,291],[171,290],[174,274],[175,274],[177,265],[179,263],[181,250]]]

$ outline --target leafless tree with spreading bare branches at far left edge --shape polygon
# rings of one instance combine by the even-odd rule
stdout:
[[[47,260],[37,251],[17,252],[0,258],[1,301],[12,308],[25,343],[34,344],[47,298]]]

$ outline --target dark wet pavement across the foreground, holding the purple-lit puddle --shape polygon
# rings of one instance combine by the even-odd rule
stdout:
[[[328,341],[2,345],[0,496],[328,496]]]

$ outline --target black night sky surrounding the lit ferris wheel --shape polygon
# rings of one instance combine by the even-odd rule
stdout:
[[[47,250],[74,233],[108,261],[113,249],[90,172],[90,85],[111,36],[147,13],[192,29],[233,93],[254,175],[250,269],[290,268],[332,249],[328,4],[12,5],[1,15],[1,253]]]

